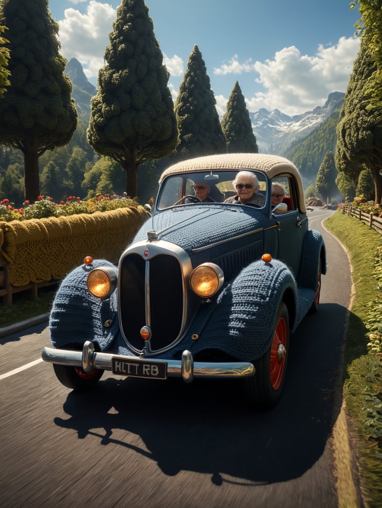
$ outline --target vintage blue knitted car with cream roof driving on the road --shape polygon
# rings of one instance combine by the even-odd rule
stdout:
[[[257,204],[232,198],[240,171],[256,175]],[[273,208],[272,182],[286,189]],[[210,155],[170,166],[159,184],[118,267],[89,252],[61,282],[43,359],[74,390],[105,370],[186,383],[231,378],[250,401],[275,405],[290,333],[317,309],[326,272],[298,170],[274,155]],[[208,201],[195,196],[198,186],[209,187]]]

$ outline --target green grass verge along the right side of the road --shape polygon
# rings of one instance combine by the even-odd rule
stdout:
[[[353,268],[356,294],[346,335],[343,395],[358,435],[363,495],[367,506],[377,508],[382,506],[382,356],[371,350],[369,320],[380,314],[375,312],[375,306],[381,307],[375,274],[380,269],[376,253],[382,238],[340,211],[325,226],[346,247]]]

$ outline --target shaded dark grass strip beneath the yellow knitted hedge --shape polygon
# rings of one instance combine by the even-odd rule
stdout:
[[[32,299],[31,291],[15,293],[12,307],[0,305],[0,328],[50,312],[56,290],[56,285],[41,288],[35,300]]]

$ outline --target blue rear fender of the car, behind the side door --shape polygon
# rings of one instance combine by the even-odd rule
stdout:
[[[321,257],[321,273],[326,273],[326,249],[324,240],[316,230],[310,230],[305,233],[302,245],[303,256],[301,258],[300,268],[297,280],[299,287],[317,289],[318,268]]]

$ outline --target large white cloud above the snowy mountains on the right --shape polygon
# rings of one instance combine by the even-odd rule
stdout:
[[[359,42],[356,38],[341,37],[334,46],[320,45],[315,56],[301,55],[295,46],[290,46],[264,63],[251,60],[240,63],[235,55],[228,64],[215,69],[214,74],[258,73],[255,82],[265,91],[246,100],[248,110],[278,108],[294,115],[324,104],[331,92],[346,91]]]

